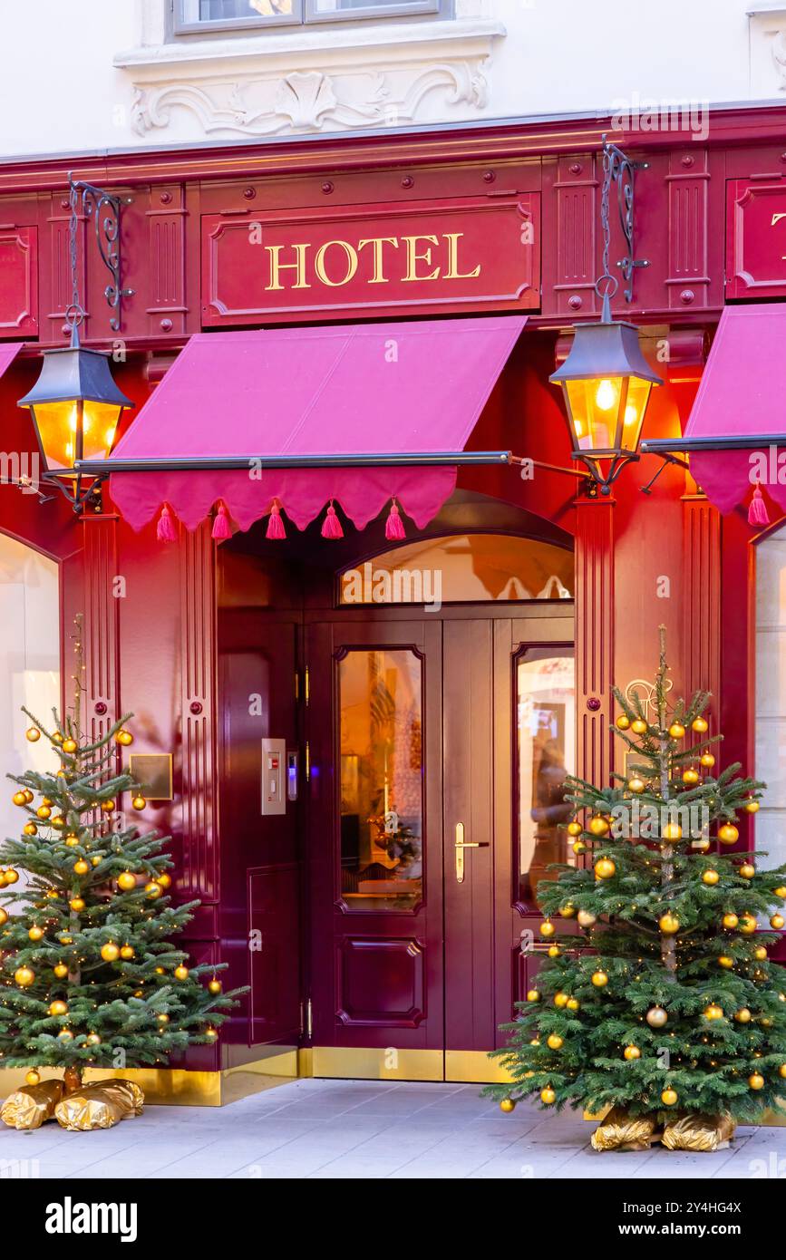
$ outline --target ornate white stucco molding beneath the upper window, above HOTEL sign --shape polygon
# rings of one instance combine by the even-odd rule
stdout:
[[[145,33],[144,38],[145,38]],[[142,43],[118,53],[131,76],[131,125],[178,139],[401,126],[475,117],[501,23],[358,23],[236,39]]]

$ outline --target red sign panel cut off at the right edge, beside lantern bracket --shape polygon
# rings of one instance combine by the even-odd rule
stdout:
[[[786,183],[731,179],[727,185],[726,296],[786,296]]]

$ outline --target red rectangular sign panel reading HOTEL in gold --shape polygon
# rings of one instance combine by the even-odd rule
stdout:
[[[202,324],[540,305],[538,194],[207,214]]]

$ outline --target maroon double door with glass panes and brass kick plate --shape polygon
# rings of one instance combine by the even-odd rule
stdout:
[[[572,755],[572,639],[569,602],[307,621],[315,1075],[494,1079],[486,1053],[537,964],[529,876],[561,856],[548,794]]]

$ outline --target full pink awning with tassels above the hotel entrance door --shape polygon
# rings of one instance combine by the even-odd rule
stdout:
[[[273,504],[304,529],[331,500],[363,529],[390,499],[423,527],[451,495],[455,465],[271,469],[265,459],[462,451],[524,324],[514,315],[196,334],[108,466],[247,464],[116,471],[112,499],[135,529],[164,504],[194,529],[222,503],[241,529]]]

